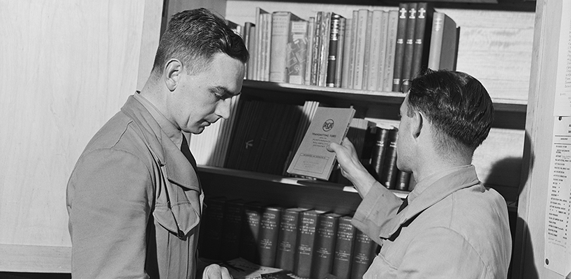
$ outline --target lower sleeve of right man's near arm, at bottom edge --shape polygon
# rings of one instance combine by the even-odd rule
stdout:
[[[445,227],[428,229],[410,242],[396,278],[494,278],[463,236]]]

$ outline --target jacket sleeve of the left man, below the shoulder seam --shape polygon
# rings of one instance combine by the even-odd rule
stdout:
[[[80,159],[68,185],[74,278],[148,278],[153,188],[149,169],[131,153],[100,149]]]

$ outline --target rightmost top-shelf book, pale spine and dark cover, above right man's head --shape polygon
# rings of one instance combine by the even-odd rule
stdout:
[[[445,13],[435,12],[432,20],[428,68],[456,70],[459,29]]]

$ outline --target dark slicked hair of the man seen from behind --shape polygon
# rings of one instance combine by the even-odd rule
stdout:
[[[424,112],[436,127],[442,147],[472,153],[494,122],[494,105],[484,86],[466,73],[450,70],[429,69],[412,80],[407,114],[414,110]]]

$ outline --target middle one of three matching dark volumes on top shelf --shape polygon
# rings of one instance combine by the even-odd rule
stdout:
[[[408,20],[406,22],[406,38],[404,44],[403,68],[401,72],[401,90],[408,92],[410,77],[413,69],[413,56],[415,51],[415,27],[418,3],[408,3]]]

